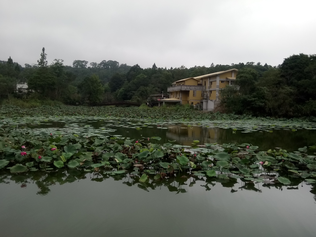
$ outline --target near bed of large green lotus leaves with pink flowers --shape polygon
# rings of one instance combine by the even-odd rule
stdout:
[[[291,153],[284,149],[260,151],[252,144],[204,144],[196,146],[159,145],[160,137],[131,140],[118,136],[69,136],[60,131],[34,132],[15,128],[6,121],[0,127],[0,169],[11,173],[58,169],[96,172],[103,175],[130,173],[139,182],[171,177],[205,177],[206,182],[263,182],[266,185],[291,185],[305,180],[316,183],[316,145]]]

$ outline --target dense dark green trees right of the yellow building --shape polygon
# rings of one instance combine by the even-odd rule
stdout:
[[[316,55],[293,55],[278,68],[262,74],[243,68],[236,86],[221,92],[227,112],[256,116],[301,117],[316,115]]]

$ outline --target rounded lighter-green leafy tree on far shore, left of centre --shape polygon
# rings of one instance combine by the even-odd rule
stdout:
[[[99,76],[93,74],[86,77],[79,85],[82,97],[89,103],[98,103],[102,100],[104,88]]]

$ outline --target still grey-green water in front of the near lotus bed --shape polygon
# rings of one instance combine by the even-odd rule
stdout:
[[[79,171],[1,174],[1,236],[315,236],[316,189]]]

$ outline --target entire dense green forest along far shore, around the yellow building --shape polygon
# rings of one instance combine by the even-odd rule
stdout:
[[[22,67],[0,61],[0,99],[14,94],[16,83],[27,82],[33,90],[27,99],[59,100],[64,103],[145,102],[150,94],[167,92],[172,82],[194,76],[236,68],[236,85],[221,91],[222,112],[255,116],[316,116],[316,55],[292,55],[278,66],[247,62],[210,67],[141,68],[117,61],[100,63],[75,60],[72,66],[55,59],[51,64],[42,49],[37,64]]]

